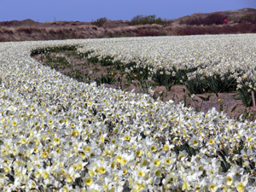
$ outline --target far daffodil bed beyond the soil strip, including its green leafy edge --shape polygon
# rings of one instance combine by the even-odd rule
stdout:
[[[167,89],[182,82],[190,94],[238,90],[249,106],[253,103],[250,92],[256,90],[254,39],[255,34],[91,39],[79,52],[89,54],[89,59],[112,58],[113,63],[125,65],[128,73],[142,69],[143,77],[149,73],[149,79],[165,74]]]

